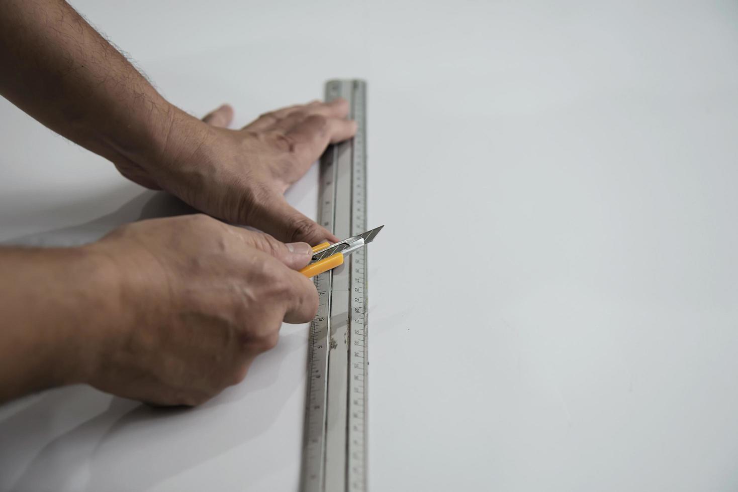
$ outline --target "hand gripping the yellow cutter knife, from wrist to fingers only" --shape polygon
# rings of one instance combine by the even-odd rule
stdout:
[[[277,344],[283,321],[306,323],[314,285],[296,271],[305,243],[205,215],[137,222],[91,245],[120,272],[120,326],[101,327],[86,382],[156,404],[199,404],[241,382]]]

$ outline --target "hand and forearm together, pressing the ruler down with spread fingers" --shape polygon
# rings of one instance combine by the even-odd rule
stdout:
[[[131,180],[207,214],[286,242],[337,240],[282,195],[329,142],[354,135],[345,101],[284,108],[243,130],[225,128],[227,106],[201,122],[166,101],[63,0],[3,2],[0,94]]]

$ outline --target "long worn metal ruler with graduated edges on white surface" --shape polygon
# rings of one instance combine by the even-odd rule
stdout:
[[[351,140],[320,159],[320,223],[338,237],[366,231],[366,83],[331,80],[325,100],[348,100]],[[303,492],[366,489],[367,248],[314,279],[320,296],[308,342]]]

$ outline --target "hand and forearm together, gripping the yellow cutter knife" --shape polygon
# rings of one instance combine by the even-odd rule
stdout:
[[[205,215],[125,225],[83,247],[0,248],[0,401],[88,383],[193,405],[244,378],[318,303],[305,243]]]

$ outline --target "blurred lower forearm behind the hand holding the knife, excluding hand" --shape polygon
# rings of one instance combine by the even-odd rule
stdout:
[[[123,322],[116,281],[88,247],[0,247],[0,402],[89,377]]]

